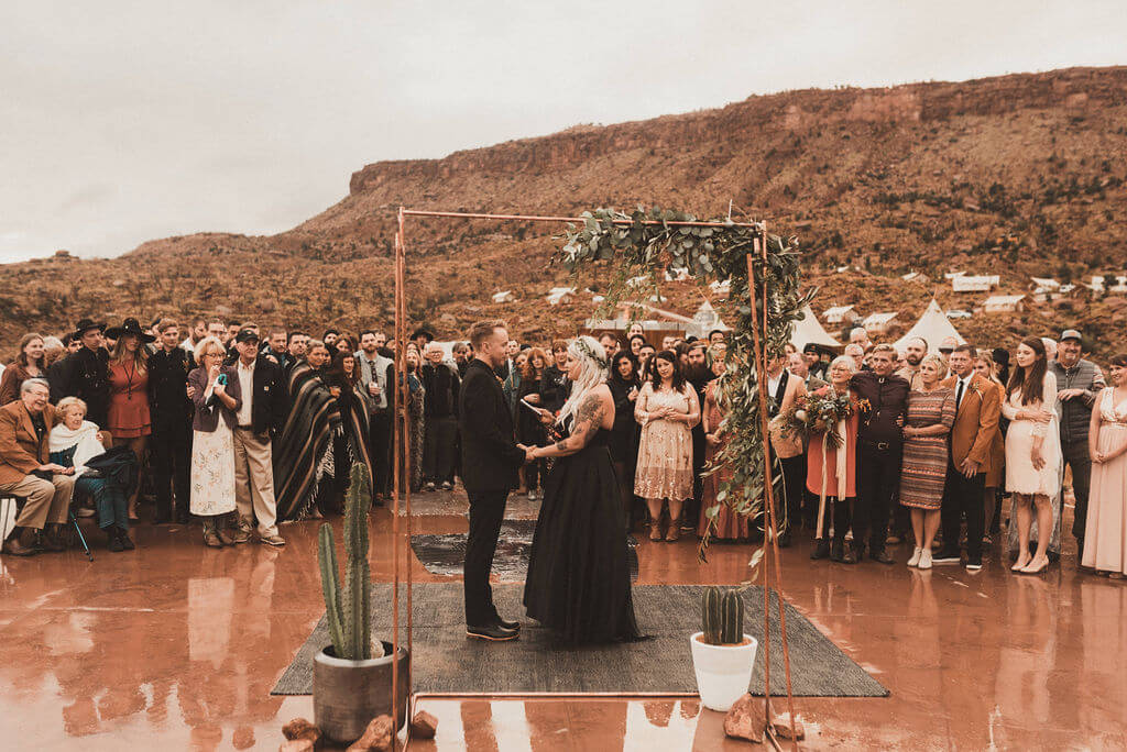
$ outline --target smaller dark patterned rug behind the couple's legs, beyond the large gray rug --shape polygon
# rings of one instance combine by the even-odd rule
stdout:
[[[529,552],[532,549],[532,536],[535,531],[535,520],[506,519],[502,522],[492,566],[492,574],[500,582],[524,582],[529,574]],[[467,537],[464,532],[415,535],[411,536],[411,550],[431,574],[461,576]],[[638,580],[637,545],[635,540],[627,549],[631,582]]]

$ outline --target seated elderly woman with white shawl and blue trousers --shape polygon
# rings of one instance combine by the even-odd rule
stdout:
[[[132,550],[128,527],[128,489],[123,487],[119,474],[95,469],[88,465],[106,454],[110,445],[108,432],[86,420],[86,403],[78,397],[59,401],[62,422],[51,429],[51,462],[74,468],[76,498],[89,494],[98,511],[98,527],[106,531],[109,550]]]

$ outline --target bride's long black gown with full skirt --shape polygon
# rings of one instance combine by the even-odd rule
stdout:
[[[524,606],[568,643],[638,639],[610,431],[556,460],[532,539]]]

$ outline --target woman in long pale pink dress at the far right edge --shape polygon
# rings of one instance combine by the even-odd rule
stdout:
[[[1092,486],[1081,564],[1121,579],[1127,574],[1127,355],[1111,359],[1111,386],[1092,405],[1088,432]]]

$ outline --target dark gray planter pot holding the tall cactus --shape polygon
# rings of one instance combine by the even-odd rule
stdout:
[[[360,738],[372,718],[391,715],[391,643],[383,643],[385,655],[367,661],[338,659],[329,645],[313,656],[313,723],[328,738],[352,744]],[[399,648],[399,697],[396,728],[407,719],[410,697],[410,660],[407,648]]]

